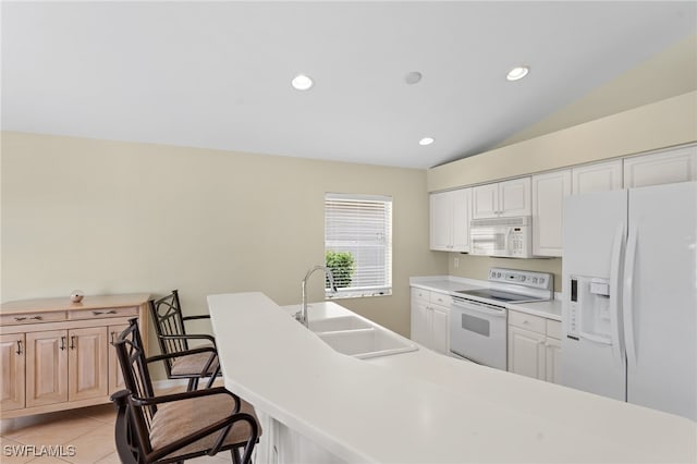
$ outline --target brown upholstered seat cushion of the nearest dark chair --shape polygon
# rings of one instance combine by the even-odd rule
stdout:
[[[240,412],[252,415],[258,425],[259,422],[257,420],[254,407],[244,400],[241,400],[241,402]],[[174,401],[159,405],[150,427],[150,444],[152,445],[152,450],[158,450],[217,420],[225,418],[232,414],[234,405],[234,399],[224,393]],[[228,434],[223,447],[244,443],[249,438],[250,432],[250,427],[246,422],[235,423],[232,430]],[[261,436],[260,426],[258,432],[259,436]],[[173,452],[168,455],[168,457],[208,450],[215,444],[219,436],[220,431],[216,431]]]

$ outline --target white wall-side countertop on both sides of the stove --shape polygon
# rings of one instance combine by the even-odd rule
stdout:
[[[472,290],[488,288],[489,282],[486,280],[465,279],[453,276],[432,276],[432,277],[413,277],[409,279],[409,285],[418,289],[429,290],[432,292],[448,293],[456,296],[460,290]],[[548,302],[536,303],[506,303],[508,309],[514,309],[522,313],[528,313],[534,316],[540,316],[548,319],[562,320],[562,302],[561,300],[550,300]]]

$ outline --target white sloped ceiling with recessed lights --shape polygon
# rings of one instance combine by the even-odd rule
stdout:
[[[411,168],[489,149],[697,29],[694,1],[4,1],[1,15],[3,130]],[[517,64],[529,76],[506,82]]]

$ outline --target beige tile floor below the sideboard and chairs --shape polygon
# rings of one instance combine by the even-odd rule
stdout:
[[[5,419],[0,435],[0,463],[119,464],[113,438],[115,417],[114,407],[109,403]],[[232,462],[232,456],[224,452],[187,462],[220,464]]]

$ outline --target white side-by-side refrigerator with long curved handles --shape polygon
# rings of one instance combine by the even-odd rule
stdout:
[[[697,420],[697,183],[564,200],[562,383]]]

